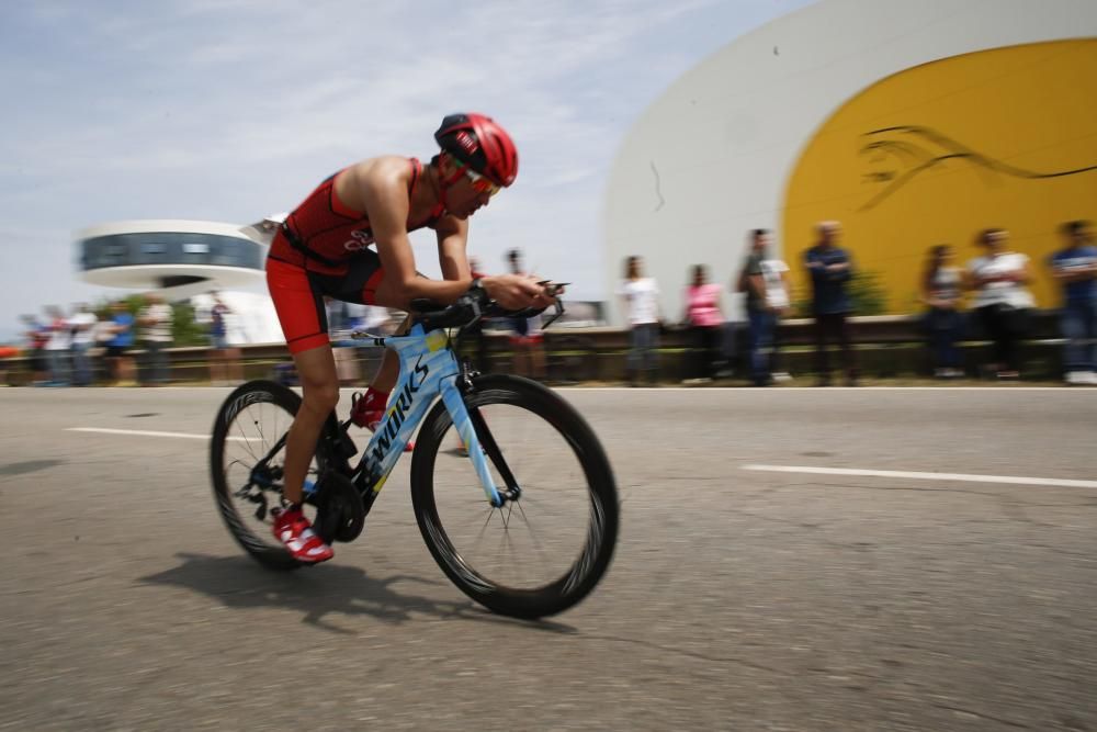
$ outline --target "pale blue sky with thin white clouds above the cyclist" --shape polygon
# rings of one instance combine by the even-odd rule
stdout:
[[[810,0],[157,0],[0,8],[0,340],[87,285],[73,232],[247,224],[362,158],[433,153],[454,111],[516,138],[514,187],[473,219],[488,271],[603,299],[600,212],[621,140],[679,76]],[[426,234],[426,236],[423,236]],[[412,238],[438,271],[432,235]]]

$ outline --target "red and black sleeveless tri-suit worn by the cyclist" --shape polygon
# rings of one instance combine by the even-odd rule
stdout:
[[[422,177],[422,164],[411,158],[408,200]],[[325,346],[328,340],[324,296],[348,303],[374,304],[384,277],[369,214],[347,206],[336,194],[340,170],[320,183],[294,209],[271,241],[267,284],[291,353]],[[425,221],[408,221],[408,230],[433,227],[445,212],[437,205]]]

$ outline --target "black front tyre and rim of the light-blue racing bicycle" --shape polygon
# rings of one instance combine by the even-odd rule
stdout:
[[[496,404],[525,409],[547,423],[564,439],[581,465],[589,497],[589,525],[583,550],[565,573],[530,589],[496,584],[462,558],[442,526],[436,503],[437,459],[452,425],[441,402],[423,420],[411,458],[411,502],[423,541],[450,581],[489,610],[522,619],[562,612],[590,594],[613,556],[620,507],[606,452],[579,413],[555,392],[534,381],[502,374],[477,376],[464,399],[470,409]],[[480,488],[476,485],[474,489]]]

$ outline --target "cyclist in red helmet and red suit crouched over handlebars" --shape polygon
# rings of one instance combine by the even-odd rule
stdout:
[[[332,556],[301,510],[316,441],[339,401],[324,295],[400,309],[417,297],[455,302],[474,285],[465,254],[468,217],[518,174],[513,140],[488,116],[451,114],[434,139],[441,149],[428,165],[382,156],[329,177],[271,241],[267,282],[304,395],[286,439],[287,507],[274,511],[274,536],[303,562]],[[422,227],[438,236],[442,281],[416,272],[408,232]],[[552,303],[533,275],[484,277],[476,284],[507,309]],[[365,396],[354,404],[355,424],[376,427],[398,375],[399,360],[386,351]]]

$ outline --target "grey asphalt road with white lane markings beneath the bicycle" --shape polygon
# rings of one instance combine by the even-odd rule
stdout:
[[[1097,390],[567,391],[622,532],[540,623],[450,585],[406,460],[276,574],[205,440],[69,431],[204,435],[226,393],[0,391],[0,730],[1097,731]]]

